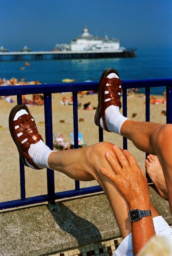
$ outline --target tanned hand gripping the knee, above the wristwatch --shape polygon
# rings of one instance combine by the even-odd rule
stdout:
[[[113,155],[106,152],[106,159],[112,169],[106,170],[101,167],[101,172],[117,186],[128,202],[130,209],[142,209],[142,207],[149,209],[147,179],[143,170],[138,166],[135,157],[128,150],[121,151],[116,145],[113,146],[113,151],[119,162],[115,161]]]

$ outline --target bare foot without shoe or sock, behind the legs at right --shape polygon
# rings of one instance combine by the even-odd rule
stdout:
[[[158,193],[164,199],[168,200],[167,185],[165,182],[162,166],[157,156],[149,154],[145,160],[146,172],[150,176]]]

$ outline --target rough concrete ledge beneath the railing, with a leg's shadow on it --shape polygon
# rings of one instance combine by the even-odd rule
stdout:
[[[168,202],[150,187],[157,210],[171,225]],[[51,255],[120,236],[111,206],[102,193],[5,211],[0,214],[0,256]]]

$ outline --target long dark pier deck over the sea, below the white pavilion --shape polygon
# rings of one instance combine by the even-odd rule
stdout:
[[[35,52],[0,52],[0,61],[4,60],[67,60],[135,57],[134,50],[116,51],[35,51]]]

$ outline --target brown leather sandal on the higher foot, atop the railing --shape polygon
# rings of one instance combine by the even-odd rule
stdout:
[[[96,109],[96,114],[94,117],[94,122],[97,126],[100,127],[100,119],[103,119],[103,126],[106,131],[108,130],[106,124],[106,117],[105,117],[105,110],[107,107],[111,105],[119,106],[121,108],[120,96],[121,96],[121,80],[118,78],[107,78],[107,76],[111,73],[115,73],[116,75],[119,74],[116,70],[112,68],[107,68],[104,70],[103,74],[101,75],[101,79],[98,85],[98,106]],[[106,84],[109,86],[106,86]],[[108,94],[105,94],[105,91],[108,91]],[[109,99],[109,101],[105,101]]]

